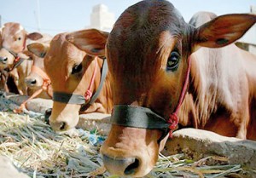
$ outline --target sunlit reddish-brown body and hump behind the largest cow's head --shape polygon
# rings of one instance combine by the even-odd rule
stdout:
[[[199,27],[216,17],[200,12],[189,24]],[[190,58],[189,89],[179,123],[256,140],[256,56],[230,44],[221,49],[201,48]]]

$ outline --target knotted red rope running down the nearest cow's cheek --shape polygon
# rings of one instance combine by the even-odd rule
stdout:
[[[184,97],[186,95],[187,88],[188,88],[188,85],[189,85],[190,67],[191,67],[191,64],[190,64],[190,57],[189,57],[189,59],[188,59],[188,70],[186,72],[186,77],[185,77],[185,82],[183,84],[182,93],[179,96],[179,100],[178,100],[177,107],[176,107],[175,111],[170,115],[170,118],[167,121],[168,123],[170,123],[170,126],[169,126],[169,129],[170,129],[169,136],[170,136],[170,138],[172,138],[172,131],[177,127],[177,123],[178,123],[177,112],[179,112],[179,109],[180,109],[181,105],[183,104],[183,100],[184,100]]]

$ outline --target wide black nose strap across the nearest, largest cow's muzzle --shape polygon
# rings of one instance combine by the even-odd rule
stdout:
[[[111,123],[133,128],[169,130],[170,123],[147,107],[115,105]]]

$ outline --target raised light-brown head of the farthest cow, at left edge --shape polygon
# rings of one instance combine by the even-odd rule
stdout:
[[[12,66],[15,59],[26,49],[27,39],[38,39],[41,35],[37,32],[27,34],[19,23],[9,22],[2,28],[2,48],[0,49],[0,67]]]

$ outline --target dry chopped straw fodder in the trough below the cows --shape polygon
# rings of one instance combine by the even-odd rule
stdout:
[[[118,177],[102,167],[99,154],[103,137],[76,130],[73,136],[56,135],[44,116],[31,118],[0,112],[0,154],[7,156],[31,177]],[[245,177],[240,164],[229,165],[226,158],[207,157],[199,161],[183,154],[160,155],[146,177]]]

